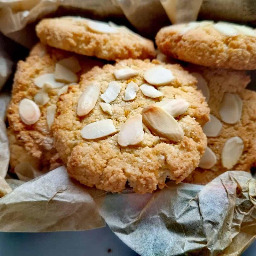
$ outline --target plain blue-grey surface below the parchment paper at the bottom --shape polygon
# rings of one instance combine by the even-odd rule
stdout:
[[[108,250],[111,249],[110,252]],[[242,256],[256,255],[256,241]],[[106,228],[77,232],[0,232],[1,256],[137,256]]]

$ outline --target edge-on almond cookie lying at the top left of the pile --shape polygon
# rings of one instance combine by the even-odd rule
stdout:
[[[36,26],[42,43],[106,60],[155,56],[154,43],[126,27],[80,17],[43,19]]]

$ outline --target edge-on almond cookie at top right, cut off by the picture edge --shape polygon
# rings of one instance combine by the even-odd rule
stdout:
[[[159,50],[194,64],[232,69],[256,68],[256,31],[228,22],[197,21],[161,28]]]

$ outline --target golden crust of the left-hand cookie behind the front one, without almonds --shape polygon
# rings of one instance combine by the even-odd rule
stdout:
[[[34,78],[44,73],[54,72],[55,63],[70,55],[68,52],[37,44],[31,50],[26,61],[18,62],[12,88],[12,99],[7,110],[10,124],[8,134],[11,147],[10,164],[12,168],[25,161],[26,158],[28,158],[29,162],[33,162],[39,170],[46,170],[47,168],[52,170],[62,164],[59,154],[54,148],[52,133],[49,131],[46,120],[47,107],[55,105],[59,99],[57,89],[49,92],[50,100],[46,105],[39,106],[41,117],[33,125],[26,125],[21,121],[19,103],[24,98],[34,100],[36,93],[41,90],[34,84]],[[86,57],[83,56],[83,59],[86,59]],[[92,66],[88,64],[90,63],[89,59],[85,63],[80,61],[84,72],[94,66],[94,62]]]

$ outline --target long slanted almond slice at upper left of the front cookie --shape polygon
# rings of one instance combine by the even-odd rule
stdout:
[[[95,107],[99,95],[99,82],[92,82],[91,84],[87,85],[78,100],[76,109],[77,116],[84,116],[88,114]]]

